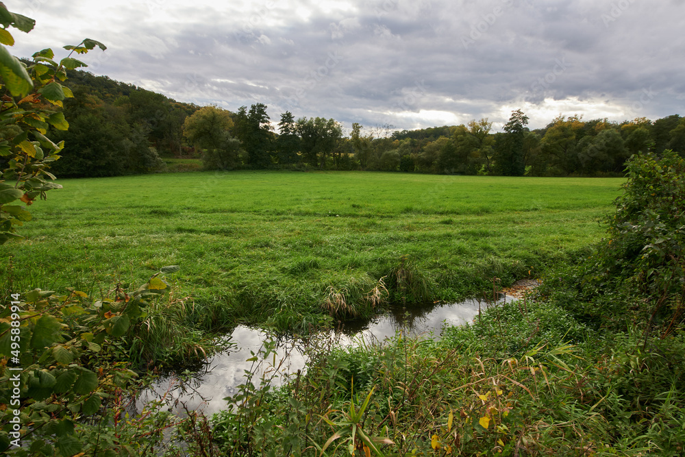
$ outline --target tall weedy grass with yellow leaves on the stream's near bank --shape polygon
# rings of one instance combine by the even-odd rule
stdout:
[[[641,336],[529,302],[493,306],[440,342],[310,343],[306,374],[275,392],[246,387],[214,417],[213,439],[246,456],[682,455],[685,371],[673,364],[685,341],[651,338],[640,353]]]

